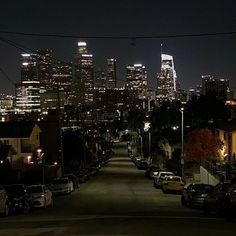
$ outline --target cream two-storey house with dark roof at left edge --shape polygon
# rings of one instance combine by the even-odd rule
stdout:
[[[28,163],[29,156],[40,146],[40,133],[35,122],[0,122],[0,142],[5,149],[11,149],[11,155],[3,159],[8,158],[12,166],[19,160],[22,165]]]

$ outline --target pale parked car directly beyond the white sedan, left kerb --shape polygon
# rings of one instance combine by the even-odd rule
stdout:
[[[74,187],[72,181],[68,177],[62,177],[53,180],[50,190],[54,195],[63,195],[73,192]]]

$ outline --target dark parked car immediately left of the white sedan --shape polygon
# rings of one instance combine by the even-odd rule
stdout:
[[[10,212],[29,213],[33,207],[33,197],[24,184],[4,185],[9,198]]]

